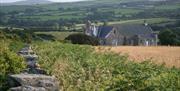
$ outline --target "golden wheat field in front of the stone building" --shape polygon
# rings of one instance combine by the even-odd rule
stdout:
[[[97,51],[112,51],[128,55],[132,61],[143,62],[151,59],[156,64],[165,64],[167,67],[180,68],[180,47],[144,47],[144,46],[118,46],[118,47],[96,47]]]

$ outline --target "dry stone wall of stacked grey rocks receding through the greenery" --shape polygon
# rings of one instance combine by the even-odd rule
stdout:
[[[26,59],[27,69],[21,74],[9,75],[9,91],[60,91],[56,78],[48,76],[46,71],[37,65],[38,56],[29,45],[18,54]]]

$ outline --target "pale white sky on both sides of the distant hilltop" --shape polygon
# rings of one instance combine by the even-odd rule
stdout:
[[[23,1],[23,0],[0,0],[0,3],[9,3],[9,2],[16,2],[16,1]],[[54,2],[75,2],[75,1],[83,1],[83,0],[49,0]]]

